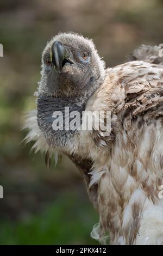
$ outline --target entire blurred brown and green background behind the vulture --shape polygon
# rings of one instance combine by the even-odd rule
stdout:
[[[1,0],[0,244],[91,245],[98,214],[66,157],[46,170],[45,156],[21,143],[22,116],[35,106],[40,56],[47,40],[74,31],[95,42],[107,66],[140,44],[163,42],[161,0]]]

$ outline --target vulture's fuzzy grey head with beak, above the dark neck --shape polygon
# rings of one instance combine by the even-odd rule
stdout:
[[[104,79],[104,62],[92,40],[61,33],[43,51],[41,75],[41,92],[54,97],[89,97]]]

